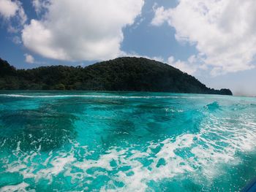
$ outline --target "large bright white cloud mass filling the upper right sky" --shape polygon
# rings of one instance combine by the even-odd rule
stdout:
[[[154,12],[151,24],[161,26],[167,22],[173,26],[176,39],[195,45],[211,74],[254,67],[255,0],[179,0],[177,7],[158,7]]]

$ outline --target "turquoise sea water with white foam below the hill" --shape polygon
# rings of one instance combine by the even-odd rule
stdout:
[[[256,99],[0,92],[0,191],[239,191]]]

